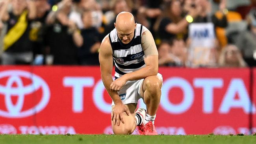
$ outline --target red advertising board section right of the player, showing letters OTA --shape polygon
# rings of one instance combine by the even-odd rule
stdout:
[[[161,68],[160,73],[165,80],[157,123],[183,127],[186,134],[249,134],[249,69]],[[173,106],[164,108],[168,100]]]

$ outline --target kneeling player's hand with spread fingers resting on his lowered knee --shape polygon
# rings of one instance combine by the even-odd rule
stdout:
[[[130,111],[123,103],[117,103],[114,105],[111,111],[111,120],[113,121],[114,125],[117,124],[117,126],[119,126],[120,120],[124,124],[123,112],[130,115]]]

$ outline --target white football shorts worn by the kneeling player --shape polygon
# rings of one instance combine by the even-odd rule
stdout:
[[[157,76],[159,76],[163,82],[163,76],[160,73],[158,73]],[[138,103],[138,100],[142,98],[139,92],[143,81],[144,79],[126,82],[126,84],[119,90],[119,92],[117,92],[120,96],[120,99],[122,100],[122,103]],[[115,104],[112,101],[112,106],[113,105]]]

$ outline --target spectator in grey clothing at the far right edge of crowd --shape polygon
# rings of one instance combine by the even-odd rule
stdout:
[[[242,31],[234,41],[249,66],[256,66],[256,9],[248,15],[249,30]]]

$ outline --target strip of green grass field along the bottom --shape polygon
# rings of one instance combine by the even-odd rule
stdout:
[[[0,135],[0,144],[256,144],[256,136]]]

